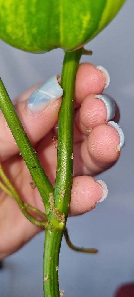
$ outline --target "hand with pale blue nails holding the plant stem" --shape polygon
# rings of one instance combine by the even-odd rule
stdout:
[[[107,125],[107,108],[94,98],[106,85],[106,76],[92,64],[81,64],[76,77],[74,117],[74,179],[71,191],[70,215],[85,213],[95,207],[103,196],[102,186],[92,176],[110,168],[119,158],[116,151],[121,142],[117,130]],[[43,168],[54,186],[57,163],[56,142],[60,97],[51,105],[34,113],[28,109],[27,99],[37,88],[25,92],[14,101],[24,129],[37,151]],[[117,115],[116,115],[117,116]],[[113,121],[116,121],[114,118]],[[0,160],[4,171],[16,187],[22,200],[44,211],[38,189],[30,186],[30,173],[19,154],[9,127],[0,112]],[[91,133],[87,133],[89,127]],[[0,190],[0,258],[25,244],[41,229],[32,225],[21,213],[17,203]]]

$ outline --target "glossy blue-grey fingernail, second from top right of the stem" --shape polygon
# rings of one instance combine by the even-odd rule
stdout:
[[[107,118],[106,120],[109,121],[111,119],[114,118],[115,116],[115,112],[116,112],[116,108],[115,108],[115,104],[113,102],[113,100],[107,96],[107,95],[95,95],[95,98],[101,99],[105,105],[106,105],[106,109],[107,109]]]

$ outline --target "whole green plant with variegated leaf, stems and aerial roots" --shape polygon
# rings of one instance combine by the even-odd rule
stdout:
[[[45,229],[43,287],[46,297],[59,297],[58,262],[63,234],[70,247],[84,252],[69,241],[66,221],[73,179],[74,89],[82,54],[91,54],[83,45],[99,33],[116,15],[125,0],[1,0],[0,38],[30,53],[55,48],[65,51],[61,87],[63,99],[58,117],[57,173],[55,187],[39,162],[24,128],[0,80],[0,107],[20,153],[44,203],[44,213],[24,203],[0,166],[0,187],[13,197],[24,215]],[[33,94],[35,96],[35,94]],[[36,219],[32,214],[42,219]]]

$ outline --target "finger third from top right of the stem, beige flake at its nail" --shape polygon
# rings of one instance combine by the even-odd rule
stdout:
[[[120,142],[114,127],[105,124],[96,126],[88,139],[74,146],[74,174],[95,175],[110,168],[120,156]]]

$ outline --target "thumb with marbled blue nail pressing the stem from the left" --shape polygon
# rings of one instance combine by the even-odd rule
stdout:
[[[15,105],[15,110],[32,145],[42,139],[56,124],[63,90],[57,75],[38,87],[28,98]],[[0,112],[0,159],[1,161],[19,152],[13,135]]]

